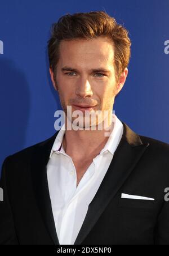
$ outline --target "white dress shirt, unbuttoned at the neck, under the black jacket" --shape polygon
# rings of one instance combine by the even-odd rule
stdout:
[[[63,148],[65,123],[56,136],[47,164],[47,178],[60,245],[73,245],[87,214],[88,205],[109,168],[114,152],[122,138],[123,124],[112,113],[112,132],[84,173],[77,186],[77,174],[72,158]]]

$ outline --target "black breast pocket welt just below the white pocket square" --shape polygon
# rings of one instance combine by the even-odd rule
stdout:
[[[120,198],[118,207],[152,209],[158,207],[157,200]]]

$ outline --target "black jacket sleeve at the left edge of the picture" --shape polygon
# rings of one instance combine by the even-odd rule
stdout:
[[[10,199],[7,188],[7,165],[10,156],[6,157],[1,173],[1,201],[0,201],[0,245],[18,245],[15,224],[12,216]]]

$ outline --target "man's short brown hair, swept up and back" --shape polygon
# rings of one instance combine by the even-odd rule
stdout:
[[[51,38],[48,40],[48,58],[51,70],[56,74],[59,61],[59,45],[62,40],[94,39],[108,37],[114,48],[115,79],[128,66],[131,57],[131,40],[128,31],[104,11],[79,12],[61,16],[52,24]]]

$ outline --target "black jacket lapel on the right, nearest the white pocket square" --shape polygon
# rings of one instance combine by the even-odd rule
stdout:
[[[81,244],[84,238],[90,233],[106,206],[108,206],[110,200],[112,200],[121,188],[124,181],[130,175],[140,157],[149,146],[149,143],[143,144],[140,136],[134,133],[126,123],[123,123],[123,127],[124,130],[121,142],[114,153],[112,162],[94,199],[88,206],[86,217],[74,245]]]

